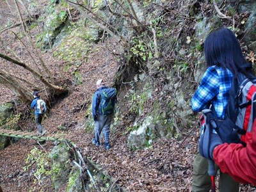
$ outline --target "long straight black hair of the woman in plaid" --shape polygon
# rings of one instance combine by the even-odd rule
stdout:
[[[210,33],[204,42],[204,54],[207,67],[219,65],[228,68],[235,76],[238,72],[252,75],[252,65],[245,60],[239,42],[230,29],[221,28]]]

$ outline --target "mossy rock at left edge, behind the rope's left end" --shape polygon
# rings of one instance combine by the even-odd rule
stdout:
[[[6,102],[5,104],[0,105],[0,124],[1,129],[19,129],[17,124],[6,124],[8,119],[13,118],[13,104],[10,102]],[[0,149],[7,147],[12,138],[6,136],[0,136]]]

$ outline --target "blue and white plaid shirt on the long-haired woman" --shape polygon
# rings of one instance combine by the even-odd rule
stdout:
[[[192,97],[192,110],[200,112],[212,104],[218,118],[225,118],[232,77],[232,72],[227,68],[216,65],[207,68]]]

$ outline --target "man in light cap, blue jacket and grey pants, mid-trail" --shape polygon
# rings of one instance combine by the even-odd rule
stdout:
[[[100,133],[103,131],[105,148],[111,148],[109,144],[109,128],[113,118],[116,102],[116,89],[104,86],[102,79],[96,83],[97,91],[92,99],[92,116],[95,121],[94,138],[92,143],[99,147]]]

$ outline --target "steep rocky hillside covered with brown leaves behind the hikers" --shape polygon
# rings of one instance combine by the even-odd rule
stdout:
[[[54,81],[68,88],[67,94],[49,99],[51,94],[31,74],[0,60],[4,70],[36,83],[43,90],[43,99],[51,100],[43,121],[47,136],[58,135],[75,143],[84,157],[111,177],[112,184],[124,190],[191,191],[198,121],[189,103],[204,72],[204,39],[212,30],[226,26],[236,33],[247,59],[254,62],[255,2],[218,1],[217,9],[210,1],[199,0],[122,4],[24,1],[25,6],[19,4],[24,18],[29,19],[28,12],[38,15],[28,26],[36,47],[26,48],[17,38],[29,45],[22,26],[10,28],[20,20],[15,4],[8,2],[9,5],[0,1],[0,31],[4,30],[0,51],[35,67],[38,58],[33,63],[28,51],[40,50]],[[8,23],[5,16],[9,6],[15,17],[8,16]],[[220,12],[225,18],[220,18]],[[110,150],[92,145],[90,111],[98,79],[118,89]],[[20,128],[35,132],[33,113],[19,97],[1,84],[0,103],[14,100],[15,113],[21,114]],[[71,174],[78,170],[71,163],[72,157],[67,160],[67,167],[58,169],[49,157],[58,144],[47,141],[41,145],[21,139],[1,150],[3,190],[81,191],[80,183],[75,182],[77,177],[74,179]],[[28,157],[37,157],[35,151],[44,158],[29,161]],[[60,176],[61,169],[68,176],[56,182],[52,175]],[[97,184],[100,180],[104,182],[98,178]],[[70,189],[71,184],[78,189]],[[111,191],[111,185],[100,190]],[[93,182],[88,186],[100,191]],[[246,185],[241,191],[255,188]]]

